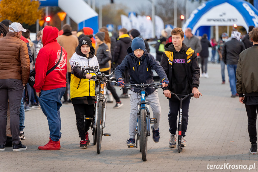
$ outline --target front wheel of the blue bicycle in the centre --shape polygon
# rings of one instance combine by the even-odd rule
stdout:
[[[147,125],[146,125],[146,111],[141,109],[141,133],[140,133],[140,150],[143,161],[147,161]]]

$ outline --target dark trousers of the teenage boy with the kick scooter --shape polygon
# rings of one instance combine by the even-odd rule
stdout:
[[[182,107],[182,136],[185,137],[187,124],[188,124],[188,109],[190,104],[190,98],[188,97],[183,101]],[[177,125],[177,115],[179,112],[179,101],[171,101],[169,100],[169,112],[168,112],[168,123],[169,123],[169,132],[171,134],[176,134],[176,130],[178,129]]]

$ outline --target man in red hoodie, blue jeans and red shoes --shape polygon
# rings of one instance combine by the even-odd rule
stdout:
[[[39,146],[39,150],[60,150],[61,98],[66,89],[67,53],[57,42],[58,29],[52,26],[45,26],[41,31],[43,48],[40,49],[35,63],[35,84],[36,95],[43,113],[48,119],[50,131],[49,142],[45,146]],[[47,71],[57,64],[58,66],[46,75]]]

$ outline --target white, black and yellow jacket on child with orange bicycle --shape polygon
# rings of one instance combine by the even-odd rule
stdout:
[[[76,52],[69,60],[72,68],[70,83],[71,101],[72,104],[91,105],[95,103],[95,81],[88,81],[89,79],[83,75],[82,70],[93,68],[98,72],[100,71],[100,66],[97,57],[94,55],[95,50],[93,47],[91,47],[89,57],[86,57],[82,53],[79,53],[79,55]],[[93,71],[86,70],[86,72],[95,75]]]

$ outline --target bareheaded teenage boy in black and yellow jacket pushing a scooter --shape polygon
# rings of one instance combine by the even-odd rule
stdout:
[[[179,101],[171,93],[180,95],[194,94],[195,98],[202,95],[197,89],[199,86],[200,68],[197,61],[197,55],[194,50],[187,47],[184,43],[184,32],[181,28],[174,28],[171,31],[172,42],[165,45],[165,51],[161,57],[161,66],[164,68],[170,85],[163,91],[164,95],[169,99],[168,121],[170,131],[169,147],[176,147],[176,130],[177,115],[179,110]],[[183,101],[182,112],[182,140],[181,144],[185,144],[185,133],[188,124],[188,109],[190,97]]]

